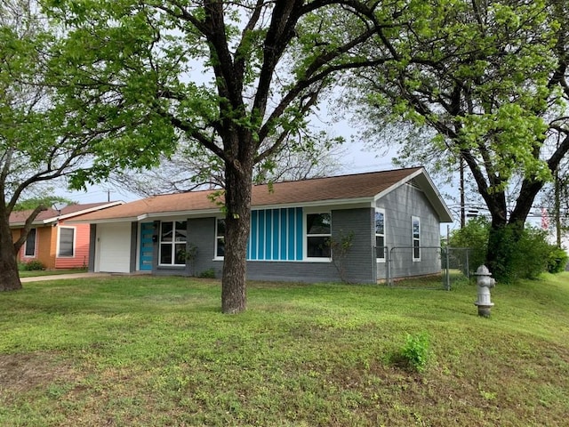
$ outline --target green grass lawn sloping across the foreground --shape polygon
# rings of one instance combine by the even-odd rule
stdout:
[[[0,294],[0,425],[565,426],[569,274],[492,290],[115,277]],[[401,363],[428,334],[423,373]]]

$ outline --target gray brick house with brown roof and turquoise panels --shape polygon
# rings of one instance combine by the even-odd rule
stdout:
[[[89,269],[220,277],[225,220],[214,194],[148,197],[76,218],[92,224]],[[440,247],[440,223],[452,221],[421,167],[254,186],[247,277],[338,281],[334,264],[343,262],[349,281],[376,283],[385,278],[384,246],[407,249],[392,275],[437,273],[439,253],[423,248]],[[339,259],[326,242],[350,234]]]

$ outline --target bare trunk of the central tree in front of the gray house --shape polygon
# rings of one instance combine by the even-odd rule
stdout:
[[[221,278],[221,310],[234,314],[246,309],[245,275],[252,193],[252,162],[226,162],[225,255]]]

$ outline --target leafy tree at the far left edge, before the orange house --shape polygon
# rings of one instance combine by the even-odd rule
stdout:
[[[85,181],[104,179],[127,159],[133,167],[154,164],[160,149],[172,146],[173,133],[170,144],[153,141],[152,150],[144,149],[148,138],[120,140],[118,131],[113,132],[115,143],[107,129],[84,122],[92,117],[79,117],[75,105],[62,102],[60,82],[47,69],[59,32],[33,0],[0,4],[0,291],[21,288],[17,253],[37,214],[47,207],[38,201],[12,242],[10,214],[22,197],[33,196],[52,180],[67,179],[81,188]]]

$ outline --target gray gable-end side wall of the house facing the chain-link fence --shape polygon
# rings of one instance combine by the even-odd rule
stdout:
[[[385,242],[392,258],[391,276],[404,278],[438,273],[440,263],[440,223],[429,200],[420,189],[402,185],[381,197],[377,207],[385,210]],[[413,262],[412,217],[421,221],[421,261]],[[393,249],[392,249],[393,248]],[[386,278],[386,263],[377,263],[378,278]]]

